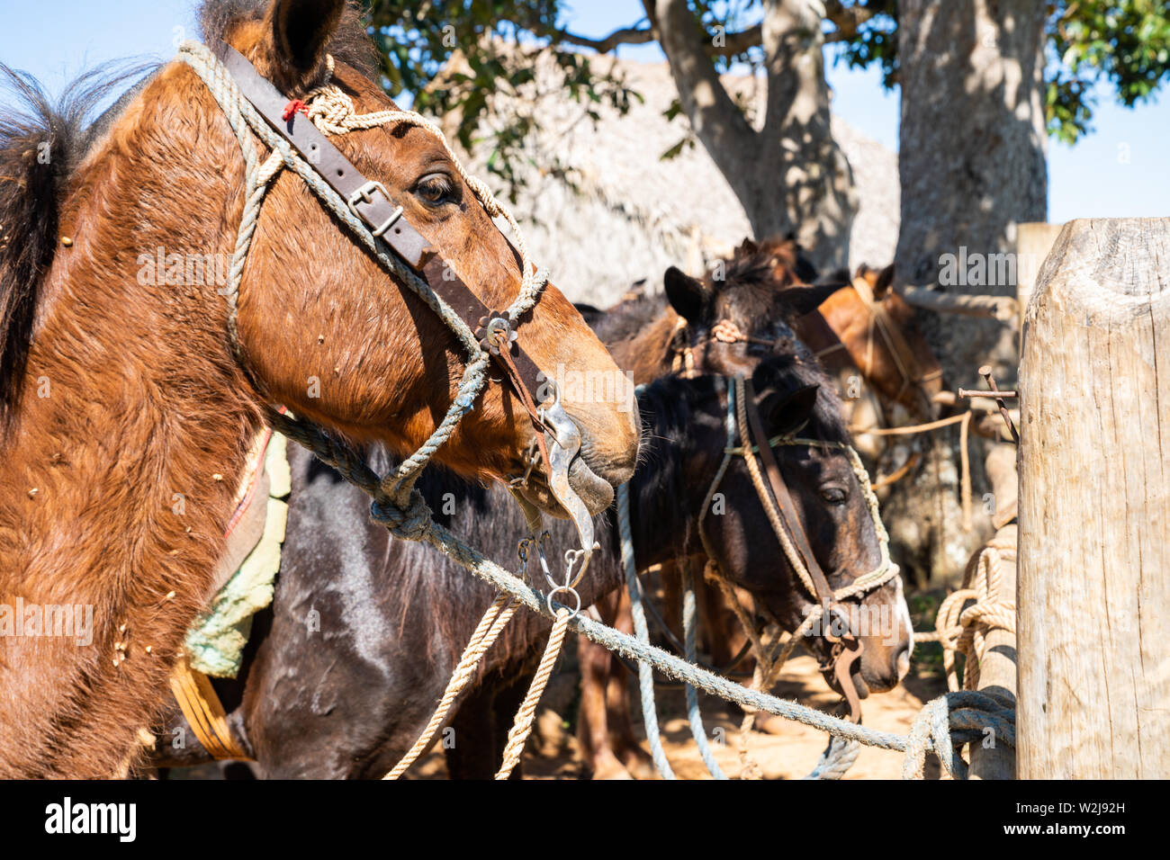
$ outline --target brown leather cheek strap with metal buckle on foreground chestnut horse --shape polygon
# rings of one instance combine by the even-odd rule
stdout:
[[[370,227],[374,240],[404,260],[429,284],[431,289],[442,298],[472,331],[481,326],[481,319],[493,316],[483,302],[455,274],[422,234],[411,226],[402,216],[401,207],[391,200],[381,183],[366,179],[353,164],[321,133],[316,125],[301,113],[292,113],[285,121],[284,108],[289,98],[281,94],[270,81],[261,76],[255,67],[226,42],[211,46],[212,51],[230,73],[243,97],[252,106],[287,139],[317,172],[325,183],[350,205],[350,211]],[[524,352],[519,344],[511,344],[511,358],[515,369],[508,367],[493,356],[502,370],[508,373],[512,384],[528,390],[531,399],[539,404],[538,392],[542,383],[541,370]],[[514,376],[515,373],[515,376]],[[522,401],[524,398],[521,398]],[[534,422],[539,425],[536,414]]]

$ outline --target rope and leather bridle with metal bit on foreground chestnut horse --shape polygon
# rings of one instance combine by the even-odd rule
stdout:
[[[487,383],[488,365],[495,355],[501,359],[501,367],[529,412],[538,447],[545,455],[550,490],[577,527],[584,553],[584,563],[578,572],[583,572],[596,545],[593,523],[584,502],[567,480],[569,465],[580,450],[580,431],[565,413],[560,393],[555,386],[551,403],[537,403],[539,395],[535,392],[549,391],[548,383],[541,380],[541,372],[521,346],[512,343],[514,329],[521,316],[536,304],[549,280],[548,274],[538,270],[529,259],[528,246],[516,219],[496,200],[487,185],[467,173],[434,123],[413,111],[358,113],[353,99],[331,83],[331,56],[326,57],[324,82],[303,99],[287,99],[242,55],[223,43],[213,50],[187,41],[179,47],[178,59],[190,66],[207,85],[235,133],[243,156],[246,202],[228,283],[219,291],[228,304],[228,340],[233,355],[257,391],[262,392],[263,386],[249,372],[239,339],[236,317],[240,282],[264,194],[283,168],[300,176],[381,267],[427,303],[454,332],[467,353],[467,365],[447,413],[422,446],[385,476],[377,476],[360,457],[319,427],[281,414],[266,404],[264,417],[269,425],[311,449],[324,462],[337,468],[346,480],[369,493],[373,497],[371,516],[392,534],[406,539],[422,539],[429,536],[434,525],[429,518],[429,509],[414,489],[414,482],[431,456],[450,438],[462,417],[473,408]],[[276,106],[274,111],[274,99],[275,104],[283,105],[283,110]],[[298,115],[307,117],[311,125],[296,123]],[[484,211],[491,218],[503,218],[511,227],[521,257],[522,283],[518,295],[505,311],[496,314],[487,310],[457,274],[450,277],[453,269],[449,263],[442,261],[435,253],[436,249],[402,218],[402,207],[390,209],[393,201],[385,187],[365,179],[325,139],[391,124],[418,126],[433,135],[443,145],[460,178]],[[264,147],[268,150],[267,157]],[[333,167],[338,168],[337,176],[326,178],[318,170],[316,164],[323,158],[331,159]],[[342,176],[347,176],[345,186],[338,179]],[[359,186],[349,193],[350,184],[355,183],[359,183]],[[346,194],[342,193],[343,187]],[[379,213],[377,222],[371,220],[373,212]],[[381,213],[386,216],[383,218]],[[480,308],[480,312],[486,316],[479,316],[477,312],[467,318],[469,308]],[[474,328],[476,325],[477,329]]]

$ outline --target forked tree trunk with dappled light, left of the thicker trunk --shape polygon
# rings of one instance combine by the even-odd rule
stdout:
[[[695,136],[757,239],[796,233],[823,269],[848,264],[853,173],[830,130],[821,13],[813,0],[765,0],[768,98],[753,129],[720,82],[687,0],[645,0]]]

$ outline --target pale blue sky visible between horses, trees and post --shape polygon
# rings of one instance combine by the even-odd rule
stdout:
[[[128,56],[166,59],[197,35],[194,0],[56,0],[51,7],[0,0],[0,62],[33,73],[50,92],[89,66]],[[47,9],[51,13],[47,14]],[[638,21],[639,0],[583,0],[570,13],[586,35]],[[661,61],[656,46],[626,47],[620,56]],[[831,67],[833,110],[851,125],[897,149],[899,97],[876,70]],[[1075,146],[1049,142],[1048,220],[1165,215],[1170,201],[1170,94],[1127,110],[1102,94],[1095,131]]]

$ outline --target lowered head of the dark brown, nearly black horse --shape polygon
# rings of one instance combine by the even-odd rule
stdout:
[[[865,582],[862,577],[873,579],[888,564],[881,544],[885,535],[879,532],[872,495],[862,484],[867,479],[848,448],[840,404],[827,377],[798,342],[789,342],[787,350],[757,364],[750,397],[766,436],[763,443],[775,442],[772,450],[791,494],[789,515],[807,537],[828,587],[840,593]],[[655,398],[658,388],[663,388],[663,395]],[[736,411],[728,417],[728,388],[720,377],[666,378],[644,393],[642,411],[652,421],[647,432],[652,438],[667,438],[677,449],[674,469],[661,474],[676,472],[677,476],[673,487],[647,482],[640,503],[651,504],[649,496],[684,495],[688,502],[677,521],[660,521],[655,528],[686,535],[687,552],[714,560],[721,577],[752,597],[757,617],[796,631],[818,607],[818,596],[801,582],[784,546],[784,542],[792,543],[790,525],[780,527],[782,535],[769,517],[759,484],[742,455],[745,436],[738,432],[728,436],[729,426],[741,426]],[[759,443],[758,436],[746,438]],[[736,453],[725,457],[729,448]],[[844,615],[844,629],[862,646],[861,659],[852,667],[858,695],[894,687],[909,669],[914,644],[901,579],[894,575],[876,587],[845,597],[834,612]],[[826,621],[806,631],[810,647],[826,666],[833,647],[833,637],[825,635],[830,629]],[[838,679],[831,672],[826,675],[837,686]]]

